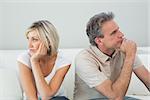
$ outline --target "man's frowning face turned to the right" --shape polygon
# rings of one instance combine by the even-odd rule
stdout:
[[[119,30],[115,21],[110,20],[102,25],[102,33],[104,35],[101,38],[101,42],[105,48],[117,49],[120,48],[123,41],[123,33]]]

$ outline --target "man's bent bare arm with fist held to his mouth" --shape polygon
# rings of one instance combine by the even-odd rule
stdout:
[[[132,65],[136,54],[136,44],[132,41],[125,40],[122,43],[121,50],[125,52],[126,57],[118,79],[115,82],[112,82],[109,79],[105,80],[103,83],[95,87],[109,99],[122,100],[126,94],[131,79]]]

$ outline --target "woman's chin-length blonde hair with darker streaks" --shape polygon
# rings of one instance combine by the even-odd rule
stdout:
[[[37,31],[40,40],[44,42],[50,55],[56,54],[59,46],[59,36],[53,24],[47,20],[34,22],[26,31],[26,36],[33,30]]]

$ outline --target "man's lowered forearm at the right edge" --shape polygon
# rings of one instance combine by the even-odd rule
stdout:
[[[144,85],[150,91],[150,72],[144,67],[144,65],[139,66],[133,71],[135,75],[144,83]]]

